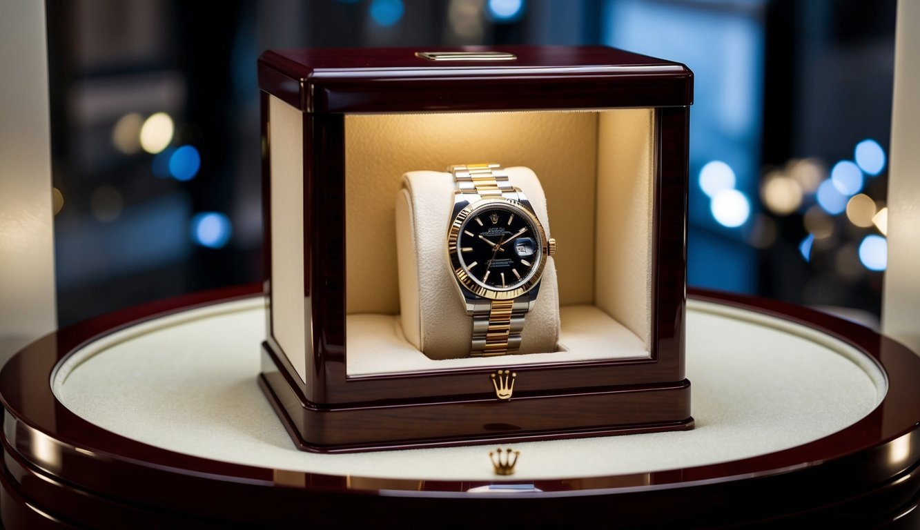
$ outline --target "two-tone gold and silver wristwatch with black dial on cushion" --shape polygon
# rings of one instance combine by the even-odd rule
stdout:
[[[454,212],[447,253],[472,317],[471,357],[517,353],[524,317],[534,308],[546,258],[546,236],[534,208],[498,164],[451,166]]]

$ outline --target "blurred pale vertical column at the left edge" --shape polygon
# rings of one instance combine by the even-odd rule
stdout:
[[[44,2],[0,2],[0,364],[56,327]]]

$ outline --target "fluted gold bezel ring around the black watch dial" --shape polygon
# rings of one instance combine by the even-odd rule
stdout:
[[[466,219],[477,213],[483,208],[490,208],[500,206],[505,209],[511,210],[514,213],[520,213],[523,216],[527,217],[531,223],[534,224],[537,235],[540,237],[540,261],[536,264],[533,269],[533,273],[530,274],[527,279],[512,289],[490,289],[476,280],[474,280],[464,269],[463,265],[460,262],[460,252],[457,248],[457,239],[460,236],[461,227],[465,224]],[[514,201],[512,199],[507,199],[504,197],[494,197],[489,199],[482,199],[477,202],[471,202],[466,205],[466,207],[456,214],[454,221],[451,223],[450,228],[447,231],[447,254],[451,260],[451,267],[454,270],[454,276],[457,281],[463,285],[467,291],[477,296],[483,298],[489,298],[489,300],[509,300],[512,298],[517,298],[518,296],[530,291],[535,287],[535,285],[540,282],[540,278],[543,276],[543,269],[546,267],[546,231],[543,228],[543,224],[540,223],[540,220],[537,219],[536,215],[523,205],[521,202]]]

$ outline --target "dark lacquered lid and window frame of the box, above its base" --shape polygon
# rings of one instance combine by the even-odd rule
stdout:
[[[518,59],[437,63],[420,59],[415,50],[406,48],[270,51],[260,59],[263,123],[268,120],[266,94],[305,110],[304,274],[312,316],[305,326],[312,335],[305,352],[283,351],[271,334],[267,340],[270,350],[278,353],[278,368],[287,372],[285,379],[295,387],[294,393],[304,397],[305,409],[466,401],[490,395],[488,376],[495,367],[347,376],[344,169],[348,132],[344,113],[431,111],[426,98],[437,99],[439,110],[627,108],[639,105],[639,100],[641,105],[656,108],[651,358],[529,363],[513,368],[525,378],[528,391],[541,395],[684,384],[687,105],[692,103],[692,74],[679,63],[603,46],[521,46],[507,51]],[[493,94],[483,83],[499,86],[500,94]],[[559,83],[577,87],[562,89]],[[348,88],[339,93],[342,86]],[[680,86],[680,97],[668,96],[674,86]],[[531,92],[537,99],[528,96]],[[393,94],[397,93],[404,93],[399,97],[405,100],[394,104]],[[605,98],[604,103],[599,104],[595,97]],[[319,105],[314,98],[343,103]],[[269,168],[268,163],[263,166],[265,190],[270,186]],[[263,197],[268,195],[263,192]],[[264,208],[270,212],[269,199]],[[270,223],[265,229],[265,251],[270,255],[274,244]],[[266,271],[270,275],[270,266]],[[268,277],[267,294],[270,289]],[[305,357],[305,380],[289,362],[293,356]],[[275,369],[274,363],[266,365],[268,371]],[[685,406],[685,398],[671,404],[673,409]],[[298,416],[293,421],[299,421]],[[673,418],[672,422],[685,424],[688,420]],[[299,431],[306,429],[301,424]]]

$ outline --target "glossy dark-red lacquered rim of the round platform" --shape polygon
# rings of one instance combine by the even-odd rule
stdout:
[[[494,513],[508,513],[507,525],[518,527],[609,528],[612,513],[628,527],[917,523],[920,358],[851,322],[738,295],[691,293],[853,344],[888,378],[879,407],[840,432],[769,455],[636,475],[540,480],[530,484],[540,491],[483,495],[467,490],[489,483],[317,475],[181,455],[99,429],[52,395],[54,367],[81,344],[138,319],[258,290],[247,286],[134,308],[62,329],[17,353],[0,372],[6,407],[0,517],[6,527],[481,527]]]

